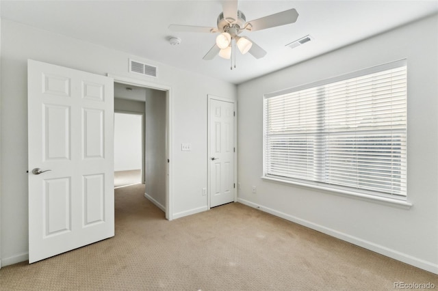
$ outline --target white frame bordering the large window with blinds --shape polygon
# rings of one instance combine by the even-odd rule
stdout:
[[[407,200],[407,193],[406,195],[391,195],[376,191],[369,191],[365,189],[354,189],[352,187],[348,186],[339,186],[335,184],[326,184],[324,182],[316,182],[312,180],[302,180],[299,178],[282,178],[280,176],[271,176],[266,172],[266,147],[267,147],[267,124],[266,124],[266,105],[269,98],[275,97],[275,96],[281,96],[285,94],[292,94],[294,92],[298,92],[305,89],[311,89],[315,87],[320,87],[323,85],[328,85],[331,83],[336,83],[339,81],[345,81],[348,79],[354,79],[356,77],[365,76],[367,74],[374,74],[377,72],[382,72],[385,70],[391,70],[394,68],[400,68],[402,66],[407,66],[407,59],[400,59],[398,61],[391,61],[387,64],[373,66],[370,68],[365,68],[362,70],[357,70],[355,72],[350,72],[347,74],[341,74],[336,77],[331,77],[329,79],[324,79],[321,81],[315,81],[311,83],[306,83],[304,85],[298,85],[296,87],[291,87],[283,90],[279,90],[276,92],[271,92],[268,94],[263,95],[263,175],[262,179],[267,180],[270,182],[279,182],[281,184],[295,184],[298,186],[305,186],[305,187],[311,187],[313,189],[320,189],[324,191],[329,191],[331,193],[337,193],[342,195],[348,195],[350,197],[359,197],[361,199],[372,199],[374,201],[378,202],[384,202],[389,204],[396,204],[398,206],[403,206],[405,208],[410,208],[412,206],[411,202],[408,202]],[[406,111],[407,111],[407,98],[406,98]],[[407,135],[407,124],[406,124],[406,135]],[[406,145],[407,147],[407,145]],[[407,163],[407,153],[406,153],[406,163]],[[406,170],[407,171],[407,170]],[[406,175],[407,177],[407,175]],[[405,186],[407,188],[407,182],[405,183]]]

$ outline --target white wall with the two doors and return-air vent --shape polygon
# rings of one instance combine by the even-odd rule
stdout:
[[[2,20],[1,253],[3,265],[27,260],[27,59],[172,88],[173,213],[207,209],[207,94],[235,100],[236,86],[111,48]],[[128,59],[158,66],[157,78],[130,74]],[[190,158],[181,143],[192,143]]]

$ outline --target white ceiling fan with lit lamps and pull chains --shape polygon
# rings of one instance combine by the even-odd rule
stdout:
[[[295,23],[298,18],[298,12],[296,12],[295,9],[289,9],[246,22],[245,14],[237,10],[237,0],[225,0],[221,2],[223,12],[218,16],[217,28],[192,25],[169,26],[169,29],[172,31],[220,33],[216,37],[216,44],[214,44],[203,57],[205,60],[210,60],[216,57],[216,55],[220,55],[220,57],[231,59],[232,61],[233,48],[235,51],[236,45],[240,53],[250,53],[256,59],[260,59],[266,55],[266,51],[255,44],[253,40],[250,40],[246,36],[239,36],[239,34],[242,31],[258,31]],[[231,66],[231,70],[232,69],[233,67]]]

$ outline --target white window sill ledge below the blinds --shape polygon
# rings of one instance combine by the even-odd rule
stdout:
[[[353,191],[346,191],[346,190],[342,190],[342,189],[333,189],[330,187],[324,187],[324,186],[319,186],[319,185],[313,185],[313,184],[307,184],[307,183],[301,183],[301,182],[295,182],[295,181],[288,181],[288,180],[280,180],[280,179],[264,177],[264,176],[262,176],[261,179],[266,180],[268,182],[276,182],[276,183],[280,183],[280,184],[292,184],[292,185],[304,186],[307,188],[320,189],[320,190],[324,190],[324,191],[329,191],[329,192],[337,194],[337,195],[344,195],[347,197],[362,199],[365,201],[368,200],[370,202],[376,202],[378,204],[384,204],[384,205],[388,205],[388,206],[395,206],[398,208],[409,209],[413,206],[413,204],[411,202],[408,202],[406,200],[399,200],[399,199],[381,197],[381,196],[376,196],[376,195],[368,195],[368,194],[357,193],[357,192],[353,192]]]

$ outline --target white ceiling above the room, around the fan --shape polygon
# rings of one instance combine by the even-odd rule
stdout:
[[[65,36],[94,42],[182,70],[231,83],[291,66],[377,33],[438,12],[438,0],[415,1],[239,1],[239,10],[253,20],[295,8],[292,25],[244,32],[268,54],[263,59],[237,53],[230,61],[203,56],[214,45],[213,33],[175,33],[170,24],[216,27],[220,1],[4,1],[1,17]],[[311,35],[297,48],[285,44]],[[181,38],[171,46],[170,36]],[[413,36],[415,39],[415,36]],[[407,40],[409,41],[409,40]]]

